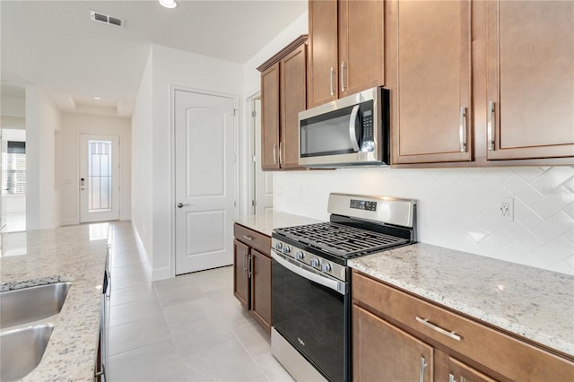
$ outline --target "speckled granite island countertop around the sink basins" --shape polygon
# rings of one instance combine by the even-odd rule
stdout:
[[[44,357],[24,381],[92,381],[100,333],[107,224],[0,235],[1,291],[72,282]]]

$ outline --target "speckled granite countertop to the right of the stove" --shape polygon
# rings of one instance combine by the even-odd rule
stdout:
[[[418,243],[352,268],[574,356],[574,277]]]

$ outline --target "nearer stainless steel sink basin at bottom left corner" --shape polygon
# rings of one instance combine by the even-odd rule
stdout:
[[[45,324],[0,334],[0,380],[22,379],[36,369],[53,330],[53,325]]]

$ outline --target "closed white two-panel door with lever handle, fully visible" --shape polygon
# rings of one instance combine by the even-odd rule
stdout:
[[[230,265],[235,100],[179,90],[174,99],[176,274]]]

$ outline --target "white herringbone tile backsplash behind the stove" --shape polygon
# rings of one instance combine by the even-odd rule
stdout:
[[[330,192],[418,200],[418,240],[574,274],[574,167],[336,169],[275,174],[275,211],[328,219]],[[514,220],[497,219],[500,197]]]

